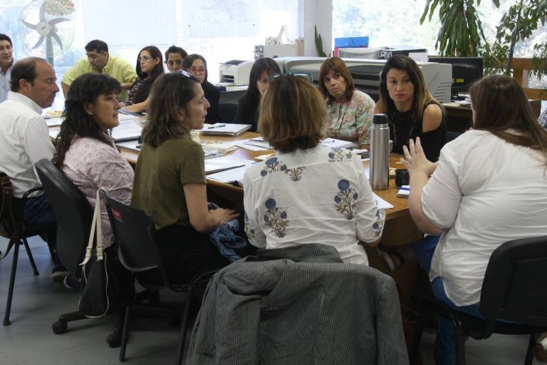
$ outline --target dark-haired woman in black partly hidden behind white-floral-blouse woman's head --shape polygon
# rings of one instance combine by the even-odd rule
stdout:
[[[268,90],[270,76],[280,72],[276,61],[271,58],[255,61],[249,74],[249,88],[239,99],[234,122],[251,124],[251,132],[256,131],[261,96]]]

